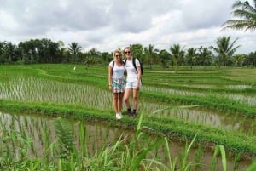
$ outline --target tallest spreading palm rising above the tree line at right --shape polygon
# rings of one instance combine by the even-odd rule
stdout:
[[[216,41],[217,47],[210,47],[218,54],[219,66],[221,63],[223,66],[226,66],[228,58],[235,54],[237,48],[241,47],[240,45],[234,47],[237,40],[238,38],[230,43],[230,37],[218,37]]]

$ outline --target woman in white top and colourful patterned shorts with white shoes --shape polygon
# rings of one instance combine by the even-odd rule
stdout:
[[[113,109],[115,117],[121,119],[123,97],[125,92],[125,65],[122,52],[115,50],[113,60],[108,65],[108,88],[113,92]]]

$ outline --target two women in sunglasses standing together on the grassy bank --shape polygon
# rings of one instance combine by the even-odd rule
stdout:
[[[130,47],[125,47],[124,54],[125,60],[122,60],[122,53],[119,50],[115,50],[113,61],[108,66],[108,85],[109,89],[113,92],[113,109],[116,112],[117,119],[123,117],[121,113],[123,101],[127,107],[127,114],[129,116],[137,115],[138,94],[142,86],[140,62],[134,59],[134,66]],[[133,100],[132,110],[129,100],[131,93]]]

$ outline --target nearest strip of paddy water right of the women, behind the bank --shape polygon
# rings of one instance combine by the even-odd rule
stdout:
[[[218,111],[202,109],[201,107],[185,109],[178,108],[177,106],[172,108],[167,105],[150,102],[143,102],[143,104],[140,104],[140,110],[148,115],[152,115],[157,111],[157,115],[164,117],[172,117],[189,123],[199,123],[225,130],[236,130],[241,131],[244,134],[256,135],[256,117],[244,117],[232,113],[224,114]]]

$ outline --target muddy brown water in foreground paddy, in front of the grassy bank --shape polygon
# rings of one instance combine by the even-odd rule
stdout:
[[[55,132],[55,117],[42,117],[38,115],[25,115],[25,114],[9,114],[0,111],[0,137],[3,138],[3,130],[7,130],[9,133],[20,133],[22,137],[26,139],[31,139],[33,142],[32,150],[29,151],[29,157],[43,157],[44,156],[44,145],[49,142],[54,142],[56,140]],[[79,145],[78,141],[78,120],[68,119],[68,121],[73,125],[74,131],[74,143]],[[133,130],[127,130],[123,128],[110,127],[105,123],[97,122],[82,122],[85,128],[85,134],[87,137],[87,148],[90,154],[94,154],[96,151],[101,150],[104,145],[113,145],[120,136],[125,136],[125,143],[131,142],[135,133]],[[46,134],[49,134],[47,136]],[[151,140],[154,140],[152,137]],[[46,142],[47,141],[47,142]],[[11,146],[9,146],[12,148]],[[183,154],[184,144],[182,142],[177,142],[172,140],[169,143],[169,148],[171,151],[171,156],[179,157]],[[3,148],[2,148],[3,150]],[[213,151],[202,150],[203,153],[200,157],[201,170],[210,170],[210,164],[212,162]],[[2,151],[0,151],[2,152]],[[160,146],[158,150],[155,151],[158,157],[165,161],[166,155],[164,148]],[[195,155],[199,150],[197,148],[189,151],[189,162],[195,161]],[[239,170],[245,170],[247,166],[251,164],[251,161],[243,159],[236,163],[236,167]],[[234,168],[234,158],[227,157],[228,170],[233,170]],[[221,158],[218,158],[217,170],[222,170]]]

